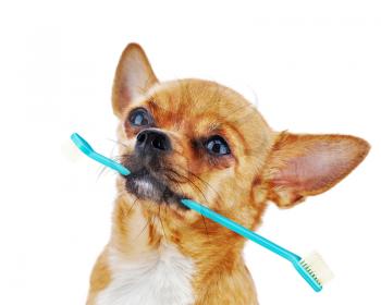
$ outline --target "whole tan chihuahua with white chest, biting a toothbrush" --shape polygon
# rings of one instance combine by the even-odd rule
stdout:
[[[159,82],[128,45],[112,91],[121,162],[112,233],[87,305],[258,304],[245,239],[181,204],[192,198],[255,230],[268,202],[290,208],[331,188],[366,141],[273,131],[250,102],[213,82]]]

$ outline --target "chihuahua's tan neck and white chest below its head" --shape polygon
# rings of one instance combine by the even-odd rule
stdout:
[[[246,225],[253,229],[255,218],[247,219],[251,219],[251,224]],[[244,239],[208,219],[183,225],[179,221],[181,219],[169,211],[165,213],[164,209],[158,218],[124,195],[116,199],[106,253],[110,278],[121,282],[110,282],[110,288],[98,296],[97,304],[108,304],[112,297],[127,297],[131,302],[133,295],[156,295],[158,282],[170,286],[172,294],[163,296],[157,292],[163,300],[152,296],[156,302],[152,304],[207,304],[208,298],[220,302],[216,304],[233,304],[236,300],[230,300],[232,295],[241,295],[242,304],[256,300],[242,257]],[[142,278],[145,278],[144,283],[139,281]],[[132,282],[135,291],[121,289]],[[226,293],[221,294],[221,289]],[[150,304],[147,297],[145,304]]]

